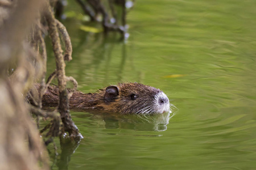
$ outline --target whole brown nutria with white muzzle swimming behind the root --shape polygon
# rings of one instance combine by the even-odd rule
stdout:
[[[58,101],[59,89],[57,86],[49,86],[43,95],[43,106],[56,107]],[[170,112],[170,103],[166,94],[157,88],[141,83],[119,83],[95,93],[75,91],[69,99],[69,108],[152,114]]]

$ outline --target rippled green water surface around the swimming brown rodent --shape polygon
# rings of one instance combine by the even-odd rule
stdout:
[[[136,1],[127,23],[122,42],[67,19],[67,75],[83,92],[148,84],[179,110],[170,120],[72,112],[84,139],[68,169],[256,169],[256,1]]]

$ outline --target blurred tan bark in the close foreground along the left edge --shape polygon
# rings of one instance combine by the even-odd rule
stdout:
[[[8,2],[4,4],[9,7],[8,15],[0,16],[0,169],[48,169],[46,149],[22,96],[38,74],[38,68],[28,62],[37,57],[24,38],[43,1],[23,0],[15,5],[14,1]],[[15,70],[10,77],[6,74],[8,67]]]

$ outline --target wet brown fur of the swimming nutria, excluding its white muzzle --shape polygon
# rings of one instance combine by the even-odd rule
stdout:
[[[106,100],[104,97],[106,88],[89,94],[75,91],[70,98],[69,107],[71,109],[97,109],[108,112],[137,113],[140,109],[152,105],[155,94],[160,92],[159,89],[140,83],[120,83],[116,87],[119,90],[119,95],[110,100]],[[38,89],[39,87],[36,88]],[[131,95],[137,95],[137,99],[131,99]],[[57,107],[58,101],[59,89],[57,86],[49,86],[43,96],[43,107]]]

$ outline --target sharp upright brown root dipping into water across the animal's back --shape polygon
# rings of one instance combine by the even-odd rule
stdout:
[[[60,22],[56,22],[56,19],[53,15],[53,11],[51,7],[48,5],[47,12],[46,12],[46,21],[49,27],[49,36],[52,40],[52,46],[53,46],[53,52],[55,54],[55,62],[56,62],[56,76],[58,80],[58,87],[59,87],[59,107],[58,111],[60,112],[61,121],[63,123],[63,131],[67,131],[69,133],[69,137],[80,139],[81,134],[79,133],[79,130],[77,129],[77,126],[73,123],[71,119],[71,115],[69,113],[69,92],[67,90],[67,79],[72,80],[73,83],[76,82],[73,78],[67,78],[65,76],[65,62],[64,62],[64,56],[63,56],[63,50],[61,49],[60,44],[60,37],[58,28],[61,32],[61,35],[63,36],[63,39],[65,41],[65,49],[66,49],[66,58],[67,60],[72,59],[71,53],[71,41],[69,39],[67,30],[64,28],[64,26]],[[77,82],[75,83],[77,86]],[[74,86],[74,87],[76,87]],[[57,122],[55,122],[54,127],[56,126]],[[55,129],[56,130],[56,129]],[[47,134],[49,135],[49,134]],[[53,136],[56,134],[53,133]]]

